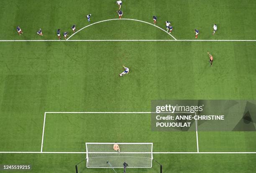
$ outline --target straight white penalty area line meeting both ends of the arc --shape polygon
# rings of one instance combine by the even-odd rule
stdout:
[[[0,40],[0,42],[44,42],[44,41],[59,41],[59,42],[65,42],[65,41],[81,41],[81,42],[118,42],[118,41],[126,41],[126,42],[148,42],[148,41],[154,41],[154,42],[168,42],[168,41],[184,41],[184,42],[203,42],[203,41],[223,41],[223,42],[256,42],[256,40]]]

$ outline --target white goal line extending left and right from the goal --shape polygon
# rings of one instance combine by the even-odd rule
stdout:
[[[86,154],[86,152],[0,151],[13,154]],[[256,152],[153,152],[153,154],[256,154]]]

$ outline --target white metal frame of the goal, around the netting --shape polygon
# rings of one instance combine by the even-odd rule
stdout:
[[[88,152],[87,144],[151,144],[151,152],[120,152],[124,154],[136,154],[136,153],[143,153],[143,154],[151,154],[151,165],[150,167],[127,167],[127,168],[152,168],[152,161],[153,161],[153,143],[85,143],[86,148],[86,168],[111,168],[111,167],[88,167],[89,157],[88,153],[108,153],[108,154],[116,154],[116,152]],[[123,168],[123,167],[115,167],[115,168]]]

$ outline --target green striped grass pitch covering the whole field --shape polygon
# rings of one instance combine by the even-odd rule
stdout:
[[[0,40],[57,40],[118,18],[115,0],[2,0]],[[256,40],[255,0],[123,0],[123,18],[177,40]],[[85,16],[92,14],[88,23]],[[213,36],[212,26],[218,25]],[[16,26],[23,30],[18,35]],[[36,31],[42,28],[43,36]],[[133,20],[97,23],[70,40],[174,40]],[[45,112],[148,112],[151,100],[255,100],[256,42],[0,41],[0,152],[40,152]],[[208,62],[207,51],[214,57]],[[120,78],[122,65],[131,72]],[[47,113],[44,152],[84,152],[85,142],[153,142],[154,152],[197,152],[195,132],[151,131],[150,114]],[[123,135],[126,134],[126,135]],[[198,131],[200,152],[256,152],[256,132]],[[0,165],[70,173],[85,154],[0,153]],[[154,154],[164,173],[252,173],[256,154]],[[121,169],[117,169],[120,173]],[[0,172],[8,172],[0,170]],[[20,171],[12,171],[20,172]],[[26,171],[25,171],[26,172]],[[83,173],[112,173],[86,168]],[[159,166],[127,173],[158,173]]]

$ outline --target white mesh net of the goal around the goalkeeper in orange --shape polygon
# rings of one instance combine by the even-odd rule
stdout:
[[[113,149],[118,144],[119,151]],[[87,168],[152,168],[153,143],[85,143]],[[108,164],[110,163],[110,164]]]

